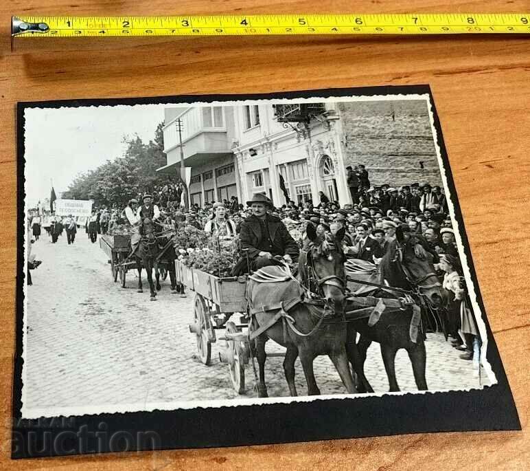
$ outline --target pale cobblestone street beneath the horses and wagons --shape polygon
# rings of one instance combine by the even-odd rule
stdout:
[[[212,348],[212,364],[197,356],[195,336],[189,333],[193,293],[171,294],[169,279],[151,302],[143,272],[143,294],[137,293],[137,274],[128,272],[126,289],[111,279],[107,256],[82,230],[73,245],[66,237],[52,244],[43,233],[32,252],[43,263],[32,272],[27,287],[27,338],[24,407],[97,407],[112,404],[169,403],[187,400],[235,399],[227,366]],[[147,287],[147,289],[146,289]],[[218,334],[220,331],[218,331]],[[429,334],[427,382],[431,390],[479,386],[472,362],[441,334]],[[268,351],[281,351],[272,341]],[[268,358],[266,382],[272,396],[287,396],[281,358]],[[326,357],[314,362],[323,394],[345,393]],[[416,389],[405,351],[396,358],[403,391]],[[299,360],[299,393],[306,391]],[[366,373],[376,392],[388,390],[377,344],[368,351]],[[254,397],[253,372],[246,369],[246,395]]]

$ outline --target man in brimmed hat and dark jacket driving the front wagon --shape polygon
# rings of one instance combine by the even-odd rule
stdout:
[[[241,223],[240,241],[242,250],[249,256],[251,270],[259,270],[268,265],[279,265],[276,256],[283,257],[288,263],[296,260],[299,248],[283,222],[270,214],[274,208],[272,201],[258,193],[246,204],[251,207],[252,215]],[[247,271],[246,258],[241,259],[233,269],[233,275]]]

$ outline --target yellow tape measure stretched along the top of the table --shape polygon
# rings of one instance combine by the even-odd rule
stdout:
[[[21,38],[291,34],[530,34],[530,13],[13,17]]]

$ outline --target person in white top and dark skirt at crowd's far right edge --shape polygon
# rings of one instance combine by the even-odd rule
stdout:
[[[457,272],[459,267],[459,259],[456,256],[447,254],[441,256],[439,268],[446,272],[443,276],[442,286],[454,295],[448,306],[448,330],[454,339],[451,343],[456,349],[464,351],[460,358],[473,360],[474,340],[477,339],[480,343],[479,329],[476,327],[474,315],[469,307],[468,295],[463,287],[459,272]],[[458,334],[462,338],[463,344],[461,344]]]

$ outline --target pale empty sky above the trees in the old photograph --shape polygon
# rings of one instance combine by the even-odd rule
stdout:
[[[165,105],[44,108],[25,110],[26,203],[36,206],[67,190],[78,173],[121,157],[124,136],[154,140]]]

